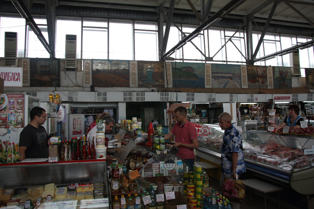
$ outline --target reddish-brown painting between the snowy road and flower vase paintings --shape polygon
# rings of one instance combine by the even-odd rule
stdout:
[[[249,88],[268,88],[266,66],[246,65],[246,69]]]

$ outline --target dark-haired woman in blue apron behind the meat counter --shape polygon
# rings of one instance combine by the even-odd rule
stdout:
[[[289,116],[284,118],[283,123],[275,127],[275,131],[279,130],[281,127],[284,127],[284,126],[295,126],[296,128],[301,127],[300,121],[304,121],[304,119],[299,116],[300,107],[298,105],[290,105],[288,107],[288,111],[289,111]]]

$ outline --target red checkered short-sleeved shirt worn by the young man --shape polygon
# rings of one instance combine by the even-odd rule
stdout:
[[[197,139],[196,128],[190,122],[186,122],[183,126],[181,123],[177,122],[171,129],[171,133],[175,134],[176,142],[183,144],[192,144],[193,139]],[[179,147],[177,156],[181,159],[194,159],[193,149],[186,147]]]

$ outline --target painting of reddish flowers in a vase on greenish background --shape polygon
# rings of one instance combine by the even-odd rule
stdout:
[[[274,69],[274,89],[290,89],[292,87],[291,68],[273,67]]]

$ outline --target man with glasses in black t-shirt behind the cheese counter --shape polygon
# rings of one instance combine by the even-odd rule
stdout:
[[[20,160],[26,158],[48,158],[50,139],[42,126],[46,121],[46,110],[34,107],[30,110],[30,123],[20,133]]]

